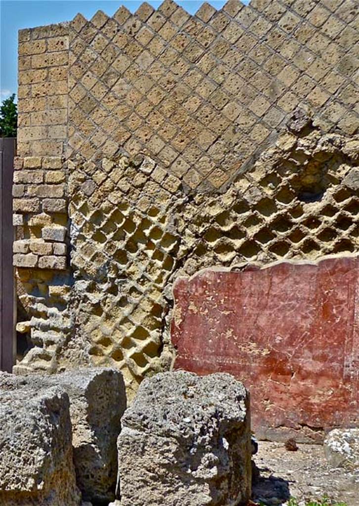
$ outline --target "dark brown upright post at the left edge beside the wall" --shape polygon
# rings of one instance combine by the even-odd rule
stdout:
[[[15,139],[0,138],[0,370],[15,361],[12,184]]]

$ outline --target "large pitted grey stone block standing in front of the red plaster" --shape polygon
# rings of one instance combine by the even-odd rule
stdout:
[[[122,506],[229,506],[250,498],[249,396],[230,374],[145,379],[122,427]]]

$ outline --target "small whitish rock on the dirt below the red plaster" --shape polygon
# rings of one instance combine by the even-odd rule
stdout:
[[[334,468],[359,469],[359,429],[334,429],[324,440],[324,454]]]

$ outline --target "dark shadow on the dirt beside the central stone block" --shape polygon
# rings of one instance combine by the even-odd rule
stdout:
[[[265,478],[261,471],[268,471],[267,468],[256,468],[252,485],[252,500],[262,502],[268,506],[277,506],[288,501],[291,494],[289,491],[290,481],[277,476]]]

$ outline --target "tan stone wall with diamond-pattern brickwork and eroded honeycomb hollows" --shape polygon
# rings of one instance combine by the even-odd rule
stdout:
[[[357,3],[172,0],[19,33],[16,367],[173,360],[183,273],[358,249]]]

